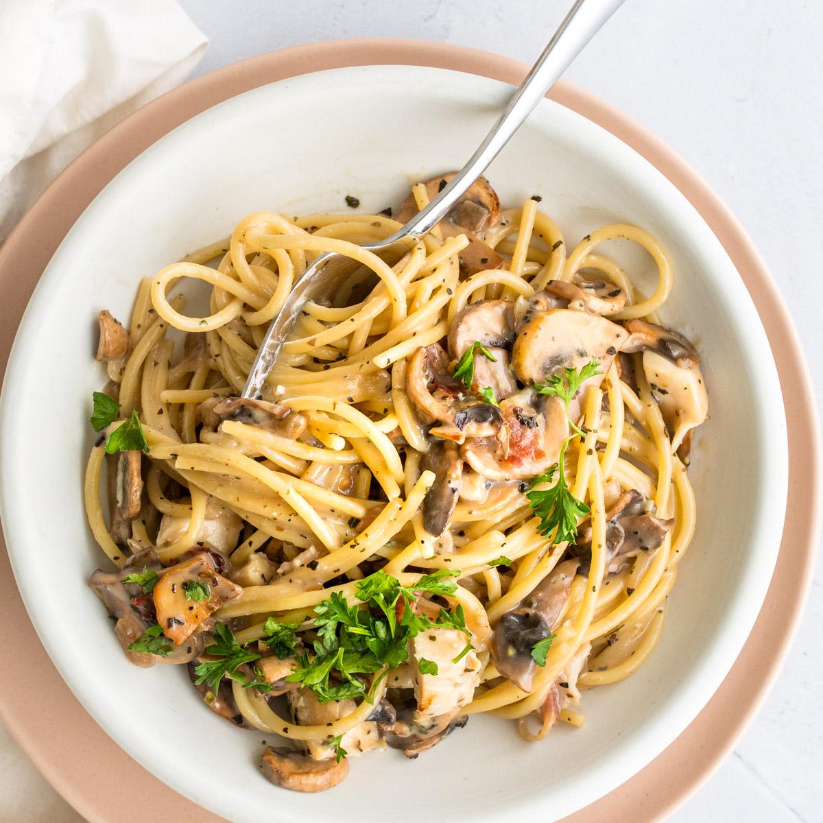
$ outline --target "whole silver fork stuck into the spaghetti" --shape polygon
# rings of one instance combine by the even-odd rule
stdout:
[[[416,240],[428,234],[486,170],[503,146],[509,142],[509,138],[546,96],[546,92],[555,84],[557,78],[565,72],[572,60],[622,2],[623,0],[576,0],[549,40],[546,49],[543,49],[543,53],[537,58],[537,63],[532,66],[532,70],[514,92],[509,104],[486,135],[486,139],[481,142],[463,169],[458,171],[443,191],[405,226],[377,243],[365,244],[363,248],[379,252],[403,240]],[[320,295],[333,294],[336,291],[335,286],[339,286],[342,279],[359,265],[351,258],[327,252],[319,255],[306,269],[277,317],[272,320],[254,358],[242,397],[256,399],[260,396],[263,384],[302,306]]]

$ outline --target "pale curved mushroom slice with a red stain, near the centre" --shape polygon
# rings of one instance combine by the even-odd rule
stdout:
[[[491,437],[468,440],[460,449],[475,472],[490,480],[537,477],[557,462],[569,434],[569,418],[560,398],[525,390],[500,403],[509,434],[502,445]]]

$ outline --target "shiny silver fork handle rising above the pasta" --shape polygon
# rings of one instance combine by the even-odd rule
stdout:
[[[428,234],[460,198],[474,181],[486,171],[500,149],[520,128],[535,106],[546,96],[560,75],[584,49],[588,41],[597,34],[601,26],[623,4],[623,0],[575,0],[569,13],[549,40],[546,49],[537,58],[537,63],[514,92],[491,132],[477,147],[471,159],[458,171],[449,184],[421,212],[418,212],[406,226],[391,238],[380,241],[380,246],[412,235],[421,237]]]

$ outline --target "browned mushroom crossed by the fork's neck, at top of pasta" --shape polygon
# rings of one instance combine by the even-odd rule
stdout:
[[[426,194],[430,200],[446,187],[456,172],[441,174],[430,179],[425,184]],[[407,223],[417,213],[417,202],[414,194],[402,202],[394,219]],[[491,188],[485,177],[479,177],[452,210],[437,225],[444,237],[466,235],[470,240],[466,249],[460,253],[460,264],[468,274],[481,272],[487,268],[497,268],[503,263],[503,258],[491,246],[483,242],[486,229],[500,222],[500,198]]]

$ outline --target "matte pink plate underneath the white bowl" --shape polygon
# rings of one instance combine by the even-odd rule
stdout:
[[[58,181],[0,250],[0,278],[10,295],[7,346],[30,291],[77,216],[123,165],[179,123],[221,100],[264,83],[325,68],[402,63],[473,72],[516,83],[524,68],[486,53],[402,41],[319,44],[227,67],[166,95],[115,128]],[[807,587],[817,524],[816,432],[802,359],[779,297],[742,231],[676,157],[625,117],[584,92],[559,85],[552,95],[599,123],[658,167],[714,230],[746,282],[774,349],[789,421],[790,508],[759,644],[746,647],[732,673],[694,723],[651,765],[568,820],[651,821],[671,811],[699,785],[742,730],[779,666]],[[811,444],[811,448],[810,448]],[[797,516],[802,512],[803,519]],[[810,514],[811,513],[811,514]],[[3,574],[10,574],[5,556]],[[782,596],[781,596],[782,595]],[[6,618],[8,665],[0,672],[0,710],[12,732],[56,788],[91,821],[216,820],[152,778],[105,737],[60,681],[21,602],[0,605]],[[765,624],[765,625],[761,625]],[[12,677],[12,672],[26,677]],[[116,775],[116,779],[111,779]],[[100,779],[103,778],[103,779]],[[124,808],[123,797],[141,797]],[[131,804],[129,804],[131,805]]]

